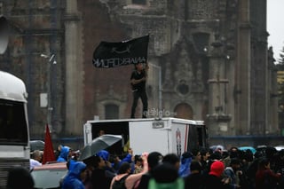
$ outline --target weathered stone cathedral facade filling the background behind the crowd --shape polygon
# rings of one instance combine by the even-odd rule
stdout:
[[[100,69],[91,59],[100,41],[141,35],[150,35],[149,117],[203,120],[211,144],[242,136],[234,144],[256,145],[251,138],[280,133],[266,0],[0,3],[12,29],[0,67],[27,83],[31,137],[43,137],[47,119],[53,138],[80,138],[94,117],[130,118],[133,67]]]

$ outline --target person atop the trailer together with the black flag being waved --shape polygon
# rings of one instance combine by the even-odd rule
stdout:
[[[92,64],[98,68],[122,67],[134,64],[135,70],[130,77],[132,86],[133,103],[131,107],[131,118],[135,118],[135,110],[138,105],[138,98],[143,104],[142,118],[146,118],[148,99],[146,95],[146,71],[149,35],[122,42],[99,43],[93,52]],[[146,65],[144,67],[144,65]]]

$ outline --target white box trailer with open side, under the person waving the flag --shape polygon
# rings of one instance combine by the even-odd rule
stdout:
[[[84,145],[98,137],[99,130],[106,134],[122,135],[122,143],[111,146],[111,153],[121,154],[130,142],[134,154],[144,152],[175,153],[181,155],[196,147],[206,147],[207,130],[203,121],[178,118],[91,120],[84,124]]]

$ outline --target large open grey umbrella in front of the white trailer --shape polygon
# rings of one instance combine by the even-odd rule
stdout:
[[[106,149],[106,147],[114,145],[121,139],[121,135],[102,135],[93,139],[90,144],[84,146],[82,154],[80,155],[80,160],[85,160],[91,157],[93,154]]]

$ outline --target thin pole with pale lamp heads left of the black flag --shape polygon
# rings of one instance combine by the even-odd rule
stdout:
[[[47,68],[47,114],[46,114],[46,119],[47,119],[47,124],[50,128],[50,130],[52,130],[51,127],[51,117],[52,117],[52,110],[53,107],[51,106],[51,63],[57,64],[56,60],[55,60],[55,54],[51,54],[51,55],[46,55],[46,54],[41,54],[41,57],[43,59],[48,59],[48,68]]]

